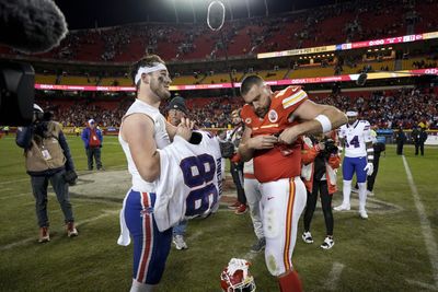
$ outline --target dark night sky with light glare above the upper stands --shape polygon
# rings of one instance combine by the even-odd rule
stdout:
[[[212,0],[55,0],[69,30],[116,26],[140,22],[206,23]],[[226,19],[265,16],[338,3],[339,0],[221,0]]]

